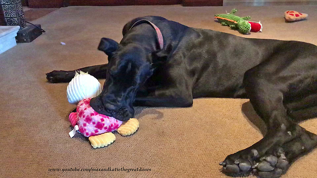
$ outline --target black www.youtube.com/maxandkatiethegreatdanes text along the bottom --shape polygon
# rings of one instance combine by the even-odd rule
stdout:
[[[107,171],[107,172],[115,172],[115,171],[121,171],[121,172],[139,172],[139,171],[151,171],[151,168],[49,168],[49,171],[51,172],[71,172],[71,171],[85,171],[85,172],[101,172],[101,171]]]

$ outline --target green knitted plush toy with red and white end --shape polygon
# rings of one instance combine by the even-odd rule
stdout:
[[[249,34],[250,32],[262,32],[261,22],[247,21],[251,17],[239,17],[234,15],[237,9],[232,9],[230,13],[216,14],[214,18],[221,22],[221,25],[229,26],[231,29],[238,29],[243,34]]]

